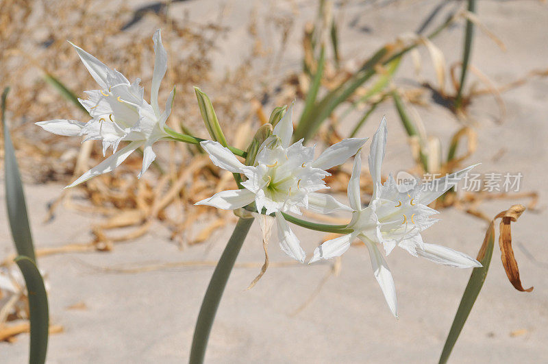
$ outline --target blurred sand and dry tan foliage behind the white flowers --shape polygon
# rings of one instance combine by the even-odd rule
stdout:
[[[34,125],[88,120],[75,97],[97,86],[66,40],[130,81],[142,79],[148,99],[158,28],[169,62],[160,104],[176,86],[168,121],[176,131],[208,138],[192,88],[198,86],[229,143],[242,149],[273,108],[295,99],[296,133],[318,150],[349,136],[371,137],[386,115],[384,175],[449,173],[482,162],[479,190],[438,201],[443,221],[425,241],[475,256],[488,221],[523,204],[527,211],[512,228],[514,252],[524,287],[535,289],[512,288],[495,247],[452,359],[545,360],[547,24],[546,3],[536,0],[0,0],[0,86],[11,87],[5,115],[49,286],[49,362],[186,361],[199,304],[236,221],[231,212],[192,206],[234,188],[232,175],[212,168],[195,147],[158,143],[157,162],[141,180],[135,154],[113,173],[63,190],[103,159],[101,146]],[[343,201],[350,171],[334,169],[328,181]],[[490,173],[523,178],[511,191],[502,181],[487,189]],[[370,182],[364,170],[364,202]],[[295,232],[306,252],[328,239]],[[7,276],[14,251],[3,209],[0,236],[0,274]],[[219,308],[208,361],[438,359],[469,271],[393,252],[387,260],[400,305],[395,320],[363,246],[308,267],[271,245],[268,271],[245,290],[264,262],[253,226]],[[0,287],[0,305],[9,295]],[[2,326],[25,320],[20,298],[0,314],[6,363],[27,355],[27,334],[1,336]]]

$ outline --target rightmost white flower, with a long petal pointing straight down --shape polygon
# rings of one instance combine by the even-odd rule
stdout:
[[[423,242],[421,231],[429,228],[436,219],[431,215],[438,213],[427,205],[443,195],[474,166],[462,169],[444,178],[416,185],[406,193],[400,193],[397,184],[390,175],[381,184],[381,164],[386,146],[386,120],[383,118],[379,129],[371,141],[369,170],[373,179],[373,196],[369,206],[363,208],[360,199],[360,153],[354,159],[354,166],[348,185],[348,198],[353,208],[352,220],[348,225],[353,232],[336,239],[325,241],[314,250],[310,263],[321,258],[340,256],[348,250],[351,242],[358,238],[365,243],[371,257],[373,274],[384,293],[390,311],[397,317],[397,300],[394,280],[386,261],[382,257],[379,245],[388,255],[395,246],[412,254],[421,256],[438,264],[458,268],[481,267],[482,265],[466,254],[440,245]]]

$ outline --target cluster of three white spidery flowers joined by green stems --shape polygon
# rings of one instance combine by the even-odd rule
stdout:
[[[37,124],[55,134],[85,136],[84,140],[100,140],[103,143],[103,154],[109,147],[112,147],[113,154],[97,167],[84,173],[70,186],[112,171],[129,154],[142,147],[144,156],[142,170],[139,173],[140,178],[155,159],[153,143],[174,138],[174,132],[166,128],[166,120],[171,112],[175,89],[171,92],[163,112],[160,112],[158,106],[158,90],[167,68],[167,56],[162,46],[160,30],[155,32],[153,41],[155,64],[150,104],[143,97],[139,79],[130,83],[121,73],[109,69],[97,58],[73,45],[100,88],[86,91],[88,99],[79,100],[88,110],[91,119],[87,123],[57,119]],[[207,123],[208,121],[206,125]],[[218,126],[216,125],[215,128]],[[288,219],[296,221],[297,218],[293,215],[301,215],[302,209],[322,214],[336,211],[351,213],[351,221],[347,226],[331,226],[331,230],[324,230],[339,232],[341,236],[316,247],[309,263],[340,256],[348,250],[353,241],[359,239],[369,250],[373,274],[379,282],[390,311],[396,317],[395,284],[383,257],[384,254],[390,254],[395,247],[406,250],[412,256],[420,256],[434,263],[451,267],[481,266],[477,260],[466,254],[448,247],[425,243],[421,237],[421,232],[437,221],[431,218],[437,211],[427,205],[434,202],[475,166],[462,169],[445,178],[432,180],[427,185],[418,184],[411,189],[402,189],[391,174],[382,184],[381,165],[388,136],[384,118],[371,141],[369,171],[374,186],[371,202],[367,206],[362,206],[360,193],[362,169],[360,151],[367,139],[344,139],[328,147],[315,158],[314,146],[304,146],[302,139],[291,143],[292,105],[275,123],[271,135],[262,141],[254,160],[248,161],[249,165],[243,164],[229,147],[221,143],[203,141],[183,134],[179,136],[181,137],[177,139],[179,141],[188,143],[201,141],[201,147],[209,154],[214,165],[245,177],[245,180],[238,184],[239,189],[221,191],[196,204],[225,210],[246,208],[258,214],[272,216],[277,222],[280,247],[288,256],[301,263],[305,262],[306,253],[291,230]],[[129,143],[116,151],[121,141]],[[232,148],[232,150],[235,149]],[[240,156],[244,155],[243,151],[240,152]],[[355,158],[348,185],[349,206],[347,206],[337,201],[332,195],[319,191],[329,189],[324,181],[324,178],[330,175],[327,170],[343,164],[352,156]],[[451,183],[447,183],[449,181]]]

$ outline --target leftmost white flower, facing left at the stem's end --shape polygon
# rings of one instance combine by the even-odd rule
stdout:
[[[129,83],[127,78],[119,71],[113,71],[84,49],[73,45],[84,66],[101,88],[100,90],[86,91],[87,100],[78,99],[80,104],[88,110],[92,119],[87,123],[76,120],[55,119],[40,121],[36,125],[40,125],[44,130],[53,134],[85,136],[84,141],[103,141],[103,156],[109,147],[112,147],[113,154],[84,173],[69,187],[80,184],[96,175],[112,171],[135,149],[143,147],[144,154],[142,169],[139,173],[140,178],[156,158],[152,150],[153,143],[169,136],[164,132],[164,126],[171,113],[175,88],[169,95],[164,112],[160,112],[158,90],[166,73],[167,54],[162,46],[160,29],[154,33],[152,39],[154,41],[155,62],[150,104],[143,98],[143,88],[139,86],[140,79],[132,84]],[[129,144],[116,151],[121,141],[129,141]]]

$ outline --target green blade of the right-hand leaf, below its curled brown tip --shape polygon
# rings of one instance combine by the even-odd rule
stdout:
[[[485,278],[487,277],[495,242],[495,228],[493,226],[493,222],[489,226],[488,234],[485,239],[487,243],[485,246],[486,249],[483,254],[483,258],[479,259],[479,263],[482,263],[483,267],[473,269],[468,284],[466,285],[466,289],[464,289],[464,294],[462,295],[462,299],[458,305],[457,313],[453,319],[453,324],[451,325],[451,330],[449,330],[449,334],[445,340],[445,345],[443,346],[443,352],[441,353],[439,361],[440,364],[447,363],[449,355],[451,355],[451,350],[453,350],[453,346],[455,346],[455,343],[457,342],[458,335],[460,335],[462,327],[470,315],[470,311],[474,306],[477,295],[479,295],[479,291],[481,291]],[[480,255],[481,254],[482,253],[480,253]]]

